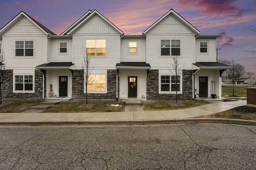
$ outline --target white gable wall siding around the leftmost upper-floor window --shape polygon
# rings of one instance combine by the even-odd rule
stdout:
[[[16,40],[34,40],[33,57],[15,57]],[[27,18],[22,18],[2,35],[2,47],[6,55],[6,69],[34,68],[46,63],[46,34]]]

